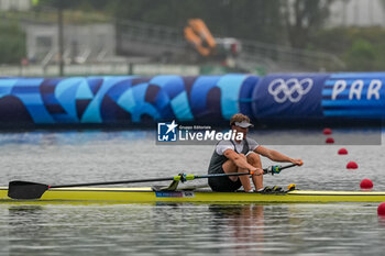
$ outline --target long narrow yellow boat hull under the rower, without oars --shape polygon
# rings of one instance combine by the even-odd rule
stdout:
[[[14,200],[8,188],[0,188],[0,202],[228,202],[228,203],[311,203],[311,202],[382,202],[385,192],[371,191],[305,191],[287,193],[212,192],[209,190],[153,191],[152,188],[56,188],[47,190],[38,200]]]

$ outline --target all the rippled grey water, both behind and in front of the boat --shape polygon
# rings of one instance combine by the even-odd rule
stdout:
[[[252,137],[305,162],[265,176],[265,185],[360,190],[360,181],[370,178],[374,190],[385,190],[384,133],[334,131],[346,156],[337,154],[342,145],[322,145],[320,131]],[[150,131],[3,133],[0,145],[0,186],[13,179],[68,183],[206,174],[213,148],[155,145]],[[346,170],[350,160],[360,168]],[[382,255],[385,221],[376,209],[377,203],[0,204],[0,254]]]

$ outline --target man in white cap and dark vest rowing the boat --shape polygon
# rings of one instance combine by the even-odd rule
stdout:
[[[254,140],[246,137],[249,127],[254,125],[244,114],[234,114],[230,119],[231,130],[243,134],[243,140],[220,141],[211,156],[209,174],[231,174],[249,172],[252,174],[252,180],[256,191],[263,191],[263,169],[261,157],[265,156],[274,162],[287,162],[295,165],[302,165],[301,159],[294,159],[279,152],[268,149],[258,145]],[[241,186],[245,192],[253,192],[249,175],[243,176],[223,176],[209,178],[209,186],[213,191],[235,191]]]

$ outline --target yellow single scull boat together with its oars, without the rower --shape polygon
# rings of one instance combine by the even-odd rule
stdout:
[[[280,170],[294,167],[271,166],[264,174],[279,174]],[[273,190],[261,192],[213,192],[210,189],[197,187],[178,189],[178,182],[187,180],[251,175],[243,172],[215,175],[186,175],[167,178],[134,179],[109,182],[73,183],[48,186],[30,181],[11,181],[9,187],[0,188],[0,202],[202,202],[202,203],[296,203],[296,202],[382,202],[385,201],[385,191],[306,191],[292,187],[288,191]],[[88,186],[135,183],[172,180],[168,187],[142,188],[95,188]],[[87,187],[87,188],[84,188]]]

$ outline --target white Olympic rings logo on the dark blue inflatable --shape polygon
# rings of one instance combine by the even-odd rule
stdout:
[[[268,93],[271,93],[278,103],[283,103],[286,100],[295,103],[300,101],[302,96],[308,93],[311,88],[312,80],[310,78],[304,78],[300,81],[297,78],[290,78],[287,81],[277,78],[268,85]]]

